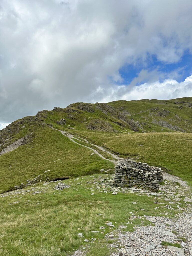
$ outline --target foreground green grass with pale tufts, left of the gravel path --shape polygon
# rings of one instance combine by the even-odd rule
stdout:
[[[118,193],[114,196],[112,193],[100,193],[96,189],[91,196],[90,188],[95,189],[98,186],[97,183],[93,184],[100,180],[98,177],[99,174],[95,174],[94,177],[66,180],[65,183],[71,187],[63,191],[54,190],[57,183],[50,183],[48,188],[35,186],[37,191],[42,190],[40,194],[31,195],[33,191],[30,191],[26,194],[1,197],[0,255],[64,256],[81,245],[87,247],[90,242],[86,243],[84,239],[91,241],[91,238],[97,239],[94,241],[97,248],[104,248],[101,252],[108,253],[104,242],[106,233],[115,231],[122,224],[127,227],[125,231],[134,231],[135,225],[150,223],[143,218],[146,212],[140,208],[148,210],[147,215],[150,216],[162,216],[167,213],[167,217],[172,217],[178,213],[178,210],[172,211],[163,206],[155,209],[154,197],[145,195]],[[99,186],[102,190],[102,184]],[[159,198],[155,200],[162,202]],[[137,205],[133,205],[132,201],[136,201]],[[142,219],[129,221],[130,211]],[[99,213],[102,215],[99,216]],[[105,224],[107,220],[112,221],[115,228],[109,229]],[[100,230],[100,226],[106,229]],[[92,233],[92,230],[104,233]],[[78,237],[79,232],[83,233],[83,238]],[[114,239],[117,238],[115,232],[114,235]],[[93,252],[94,247],[91,247],[87,255],[94,255]]]

